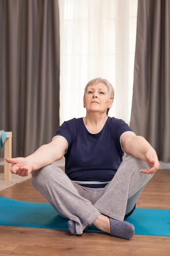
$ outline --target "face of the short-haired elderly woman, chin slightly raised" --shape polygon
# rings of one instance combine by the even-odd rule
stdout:
[[[87,111],[106,113],[113,99],[110,99],[107,85],[97,83],[88,86],[83,103]]]

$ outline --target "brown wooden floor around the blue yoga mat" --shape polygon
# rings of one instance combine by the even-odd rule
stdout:
[[[31,179],[0,192],[17,200],[46,202]],[[144,188],[137,207],[170,209],[170,170],[159,170]],[[135,235],[130,240],[108,234],[31,227],[0,226],[0,256],[170,256],[170,237]]]

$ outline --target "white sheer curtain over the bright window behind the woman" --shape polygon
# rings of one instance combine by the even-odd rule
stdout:
[[[130,123],[137,0],[59,0],[60,124],[85,116],[85,85],[96,77],[115,89],[109,116]]]

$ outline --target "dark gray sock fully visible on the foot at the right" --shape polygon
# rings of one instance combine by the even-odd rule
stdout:
[[[111,236],[117,236],[124,239],[130,239],[135,233],[135,228],[127,221],[117,221],[108,217],[111,225]]]

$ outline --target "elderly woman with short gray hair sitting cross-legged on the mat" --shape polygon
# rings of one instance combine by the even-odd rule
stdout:
[[[89,81],[83,99],[85,117],[63,122],[52,141],[34,154],[6,159],[14,163],[12,173],[32,172],[34,187],[69,219],[74,235],[94,224],[112,236],[132,238],[134,226],[124,220],[159,168],[151,145],[122,119],[108,116],[113,98],[106,79]],[[129,156],[122,161],[124,152]],[[65,172],[53,164],[63,156]]]

